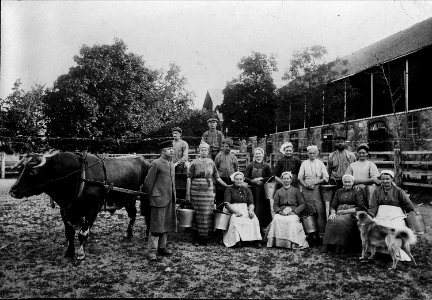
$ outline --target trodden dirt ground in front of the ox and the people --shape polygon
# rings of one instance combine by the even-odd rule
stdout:
[[[123,240],[125,210],[101,212],[86,259],[65,263],[59,208],[46,195],[13,199],[13,182],[0,180],[0,298],[432,299],[432,199],[424,193],[411,194],[427,225],[412,249],[417,267],[388,271],[386,255],[361,263],[318,248],[195,247],[183,229],[169,237],[174,255],[149,264],[143,217],[133,240]]]

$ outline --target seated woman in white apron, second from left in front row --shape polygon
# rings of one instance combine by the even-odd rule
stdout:
[[[283,172],[281,178],[283,187],[274,195],[275,215],[267,233],[267,247],[307,248],[309,244],[298,216],[306,206],[303,195],[291,186],[291,172]]]

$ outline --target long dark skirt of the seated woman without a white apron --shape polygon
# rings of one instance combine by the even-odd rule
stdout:
[[[359,250],[361,239],[354,215],[339,215],[334,220],[328,220],[323,244]]]

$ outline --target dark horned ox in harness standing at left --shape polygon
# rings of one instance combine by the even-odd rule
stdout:
[[[76,255],[77,259],[84,259],[89,230],[102,208],[114,212],[125,207],[129,216],[126,238],[132,237],[137,194],[127,191],[139,192],[147,176],[150,163],[142,157],[101,158],[87,153],[60,152],[49,157],[29,154],[18,165],[23,165],[23,170],[10,195],[20,199],[46,193],[60,206],[68,241],[66,258],[75,255],[75,230],[80,229]],[[141,195],[141,203],[148,203],[145,195]],[[146,206],[141,205],[143,215]]]

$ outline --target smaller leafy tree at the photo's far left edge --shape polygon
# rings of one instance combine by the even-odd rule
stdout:
[[[36,84],[30,91],[21,88],[20,79],[15,81],[12,93],[0,99],[2,135],[35,136],[45,132],[45,121],[42,111],[42,99],[45,87]]]

